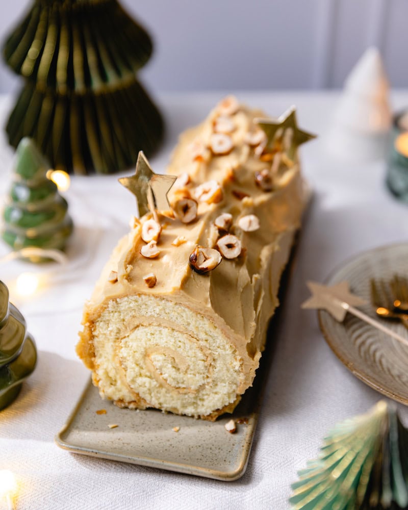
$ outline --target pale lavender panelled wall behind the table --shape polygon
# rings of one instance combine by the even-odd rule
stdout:
[[[150,89],[341,87],[377,45],[394,87],[408,87],[408,0],[122,0],[148,29]],[[0,38],[31,5],[2,0]],[[0,65],[0,92],[19,79]]]

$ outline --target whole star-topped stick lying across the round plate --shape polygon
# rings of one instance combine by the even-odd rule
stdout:
[[[354,308],[361,304],[366,304],[367,301],[351,294],[348,282],[328,286],[320,285],[316,282],[308,282],[307,285],[312,292],[312,296],[302,303],[301,308],[325,310],[339,322],[343,322],[346,313],[349,312],[404,345],[408,345],[406,338],[401,337],[392,329]]]

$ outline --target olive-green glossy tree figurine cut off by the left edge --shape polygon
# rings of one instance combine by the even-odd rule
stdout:
[[[23,316],[9,303],[6,285],[0,282],[0,410],[16,398],[36,363],[34,340]]]

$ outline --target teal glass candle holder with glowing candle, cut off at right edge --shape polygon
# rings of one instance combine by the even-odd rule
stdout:
[[[393,118],[386,183],[393,195],[408,203],[408,110]]]

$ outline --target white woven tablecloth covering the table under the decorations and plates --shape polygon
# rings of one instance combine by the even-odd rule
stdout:
[[[384,162],[355,164],[351,155],[348,162],[341,162],[325,154],[324,134],[337,94],[237,95],[271,115],[296,104],[300,126],[321,136],[301,148],[304,174],[315,196],[274,339],[276,353],[246,474],[235,482],[220,482],[71,454],[54,444],[89,377],[74,353],[83,302],[135,211],[134,198],[117,184],[117,175],[75,177],[66,197],[76,231],[71,260],[55,276],[58,285],[27,299],[11,291],[11,300],[25,315],[39,350],[37,369],[19,398],[0,412],[0,469],[11,469],[18,478],[19,510],[285,509],[296,471],[316,457],[327,430],[337,421],[365,412],[381,398],[337,360],[323,340],[316,313],[300,310],[299,305],[308,297],[308,279],[323,281],[362,250],[406,240],[406,205],[385,188]],[[151,159],[156,171],[164,170],[177,134],[205,117],[221,96],[161,98],[168,138],[160,154]],[[2,111],[9,102],[3,98]],[[406,104],[408,91],[394,94],[394,108]],[[2,193],[9,186],[11,157],[2,138]],[[21,271],[44,269],[9,263],[0,266],[0,278],[14,289]],[[398,407],[406,423],[407,409]]]

